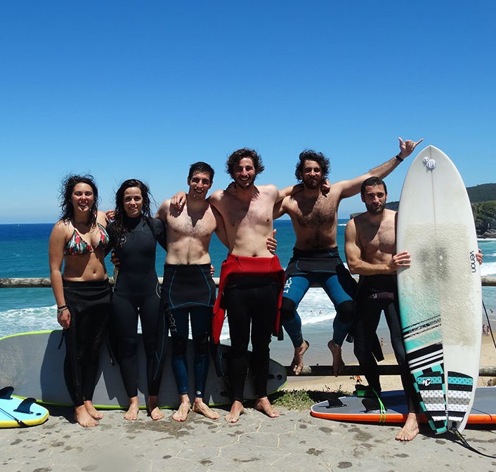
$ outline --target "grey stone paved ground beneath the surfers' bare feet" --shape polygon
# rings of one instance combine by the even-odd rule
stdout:
[[[247,409],[238,424],[191,413],[178,424],[166,412],[151,421],[124,421],[105,412],[96,428],[51,408],[50,419],[32,428],[0,429],[0,470],[8,472],[292,472],[292,471],[494,471],[489,459],[462,447],[452,435],[422,431],[415,441],[394,440],[398,426],[345,424],[281,409],[269,419]],[[222,415],[226,412],[218,410]],[[496,454],[496,429],[467,429],[466,439]]]

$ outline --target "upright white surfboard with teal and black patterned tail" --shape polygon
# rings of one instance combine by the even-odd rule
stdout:
[[[481,358],[481,272],[474,216],[455,165],[436,147],[417,155],[403,183],[397,251],[403,339],[433,431],[458,431],[474,402]]]

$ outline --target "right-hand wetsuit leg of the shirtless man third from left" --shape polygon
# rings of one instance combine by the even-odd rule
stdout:
[[[191,308],[191,334],[195,346],[195,396],[203,398],[209,373],[209,336],[211,332],[211,307]]]

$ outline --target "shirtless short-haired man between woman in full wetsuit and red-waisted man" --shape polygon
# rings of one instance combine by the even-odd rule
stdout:
[[[165,200],[157,218],[167,224],[167,256],[164,265],[162,303],[172,338],[172,369],[176,378],[181,405],[172,415],[176,421],[185,421],[190,411],[188,396],[188,317],[191,320],[195,346],[195,399],[194,412],[217,419],[203,402],[203,392],[209,367],[209,336],[216,287],[210,273],[209,244],[215,231],[221,241],[222,218],[216,215],[206,200],[214,180],[214,169],[205,162],[190,166],[189,191],[179,210]],[[195,291],[191,291],[192,285]]]

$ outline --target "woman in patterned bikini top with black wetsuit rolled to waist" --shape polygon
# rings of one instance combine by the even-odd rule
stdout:
[[[109,244],[107,219],[98,211],[98,189],[92,176],[68,176],[60,199],[62,215],[53,226],[48,246],[50,280],[57,320],[64,329],[64,376],[74,419],[89,427],[103,417],[92,400],[100,345],[112,310],[104,262]]]

